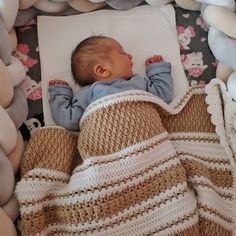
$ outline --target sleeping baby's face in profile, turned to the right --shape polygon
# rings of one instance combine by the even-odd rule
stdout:
[[[112,78],[121,77],[126,80],[129,79],[133,75],[132,56],[126,53],[117,41],[109,39],[108,43],[111,48],[109,58],[111,60]]]

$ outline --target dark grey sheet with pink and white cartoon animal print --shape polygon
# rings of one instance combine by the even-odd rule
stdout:
[[[180,35],[180,38],[186,35],[186,41],[180,40],[179,45],[181,57],[182,59],[185,58],[182,63],[185,65],[184,71],[188,83],[190,86],[207,84],[215,77],[217,61],[207,44],[208,31],[206,25],[200,17],[200,12],[187,11],[177,7],[175,4],[173,6],[175,8],[178,35]],[[31,134],[45,125],[42,94],[40,93],[42,85],[37,19],[34,18],[27,25],[17,27],[16,33],[18,38],[18,58],[24,63],[27,69],[27,79],[23,84],[23,91],[28,98],[29,106],[28,118],[20,130],[24,139],[29,140]],[[197,66],[195,62],[200,62],[200,66]],[[195,71],[199,72],[193,73],[194,70],[191,68],[195,68]],[[34,94],[38,95],[34,96]]]

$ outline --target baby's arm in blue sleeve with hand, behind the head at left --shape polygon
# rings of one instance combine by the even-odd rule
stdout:
[[[79,130],[79,121],[84,108],[78,96],[73,96],[69,84],[63,80],[51,80],[48,92],[49,106],[55,123],[69,130]]]

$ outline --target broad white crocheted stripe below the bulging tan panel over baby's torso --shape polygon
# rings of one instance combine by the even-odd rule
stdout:
[[[76,172],[71,177],[70,185],[74,185],[75,188],[79,189],[90,189],[96,187],[98,183],[99,185],[107,185],[112,182],[128,179],[130,176],[136,175],[151,166],[159,165],[173,156],[175,150],[169,144],[169,141],[165,141],[144,153],[134,154],[116,162],[104,163],[89,167],[82,172]],[[164,171],[165,168],[169,168],[169,165],[166,166],[164,164],[160,168]],[[75,188],[72,190],[75,190]]]

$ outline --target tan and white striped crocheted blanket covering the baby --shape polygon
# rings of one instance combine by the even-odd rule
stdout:
[[[207,93],[190,89],[171,105],[136,90],[104,97],[78,141],[39,130],[15,191],[26,234],[235,234],[234,144],[221,86]]]

